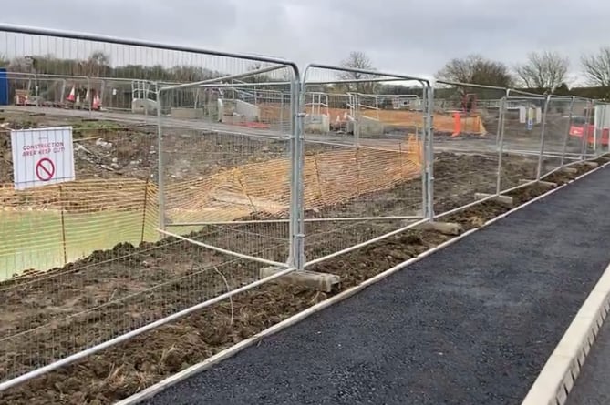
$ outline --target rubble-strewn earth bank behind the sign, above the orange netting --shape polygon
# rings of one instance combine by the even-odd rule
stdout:
[[[81,178],[153,178],[157,176],[157,127],[76,116],[0,111],[0,183],[13,182],[10,129],[72,126],[75,170]],[[164,179],[179,181],[222,168],[287,157],[283,140],[264,142],[199,129],[164,127]],[[206,137],[201,137],[205,134]]]

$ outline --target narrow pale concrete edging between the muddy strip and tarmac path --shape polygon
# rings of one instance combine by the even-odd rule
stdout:
[[[568,183],[565,183],[560,187],[553,188],[538,197],[534,197],[531,200],[525,202],[524,204],[522,204],[518,207],[512,208],[511,210],[505,212],[504,214],[501,214],[498,217],[491,218],[490,220],[485,222],[480,228],[470,229],[469,231],[462,233],[460,236],[457,236],[456,238],[452,238],[450,240],[447,240],[446,242],[441,243],[439,246],[437,246],[435,248],[430,248],[429,250],[426,250],[425,252],[419,254],[419,256],[417,256],[415,258],[409,258],[408,260],[398,264],[397,266],[394,266],[393,268],[388,268],[388,270],[377,274],[377,276],[375,276],[373,278],[368,278],[367,280],[361,282],[357,286],[352,287],[351,289],[346,289],[345,291],[340,292],[336,296],[333,296],[318,304],[315,304],[314,306],[312,306],[308,309],[305,309],[304,311],[299,312],[288,319],[284,319],[283,321],[275,324],[271,328],[264,329],[263,331],[257,333],[256,335],[254,335],[251,338],[244,339],[241,342],[237,343],[236,345],[234,345],[230,348],[224,349],[219,353],[216,353],[209,359],[205,359],[202,362],[195,364],[186,370],[182,370],[181,372],[176,373],[176,374],[172,375],[171,377],[169,377],[165,380],[162,380],[162,381],[158,382],[157,384],[150,386],[146,390],[142,390],[142,391],[126,398],[125,400],[120,400],[119,402],[116,402],[115,405],[133,405],[133,404],[140,403],[143,400],[148,400],[148,399],[152,398],[153,396],[155,396],[156,394],[160,393],[161,391],[170,388],[172,385],[174,385],[182,380],[186,380],[186,379],[190,378],[191,376],[198,374],[204,370],[210,369],[210,368],[212,368],[212,366],[220,363],[222,360],[233,357],[234,355],[236,355],[243,349],[247,349],[247,348],[253,346],[253,344],[257,343],[261,339],[268,338],[268,337],[274,335],[274,333],[277,333],[283,329],[289,328],[289,327],[295,325],[296,323],[315,314],[316,312],[321,311],[322,309],[326,309],[338,302],[341,302],[345,299],[348,299],[349,297],[356,295],[359,291],[361,291],[363,289],[367,289],[367,287],[370,287],[373,284],[377,284],[377,282],[381,281],[382,279],[388,278],[392,274],[397,273],[399,270],[401,270],[415,262],[418,262],[422,258],[427,258],[428,256],[438,252],[439,250],[441,250],[443,248],[447,248],[448,246],[460,241],[462,238],[468,237],[472,233],[480,230],[481,228],[489,227],[494,222],[499,221],[502,218],[506,218],[509,215],[511,215],[512,213],[517,212],[518,210],[525,208],[525,207],[529,206],[530,204],[533,204],[533,203],[543,199],[544,197],[548,197],[548,196],[552,195],[553,193],[559,191],[563,187],[567,187],[568,185],[572,184],[574,181],[577,181],[583,177],[591,175],[594,172],[596,172],[597,170],[605,168],[608,165],[610,165],[610,161],[608,161],[607,163],[605,163],[602,166],[595,167],[594,169],[584,173],[583,175],[581,175],[579,177],[574,178],[574,180],[572,180]],[[550,402],[550,403],[553,403],[553,402]],[[545,405],[545,404],[546,403],[543,403],[543,402],[536,403],[536,405]],[[529,404],[527,404],[527,405],[529,405]],[[553,405],[557,405],[557,404],[553,403]]]

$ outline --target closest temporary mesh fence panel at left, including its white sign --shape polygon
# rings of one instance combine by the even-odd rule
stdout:
[[[17,31],[0,33],[8,79],[22,90],[0,131],[0,238],[9,241],[0,248],[0,387],[250,286],[264,266],[287,268],[295,96],[285,77],[297,80],[295,68]],[[260,82],[256,91],[280,95],[290,113],[264,123],[250,116],[260,105],[221,106],[227,76]],[[180,86],[190,82],[199,85]],[[11,139],[32,128],[42,132]],[[69,131],[69,145],[54,131]],[[60,178],[63,164],[51,155],[68,146],[74,169]],[[176,237],[160,233],[165,224]]]

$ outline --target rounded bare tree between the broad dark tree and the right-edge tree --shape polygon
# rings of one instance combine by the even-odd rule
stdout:
[[[526,87],[553,93],[565,82],[569,67],[570,59],[556,52],[532,52],[526,63],[515,67],[515,72]]]

